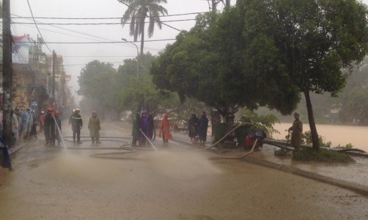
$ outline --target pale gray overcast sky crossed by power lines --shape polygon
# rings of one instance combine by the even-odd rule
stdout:
[[[235,0],[233,0],[235,1]],[[169,15],[178,15],[192,12],[208,12],[206,0],[168,0],[164,6]],[[32,19],[16,19],[15,17],[31,17],[31,10],[26,0],[11,0],[10,12],[12,22],[33,23]],[[122,17],[127,6],[117,0],[29,0],[34,17]],[[219,6],[221,9],[222,6]],[[196,15],[181,15],[164,17],[165,20],[194,19]],[[42,23],[106,23],[120,22],[119,19],[36,19]],[[170,26],[180,30],[189,30],[195,21],[167,22]],[[122,28],[117,25],[38,25],[45,42],[95,42],[95,41],[121,41],[122,37],[132,41],[128,35],[128,24]],[[155,32],[150,39],[146,35],[145,40],[171,39],[179,32],[174,28],[162,26],[160,30],[155,26]],[[29,34],[34,40],[37,39],[37,28],[34,24],[12,24],[13,35]],[[165,48],[166,44],[174,41],[144,42],[144,53],[148,51],[156,55]],[[136,43],[138,48],[140,42]],[[100,60],[112,62],[115,67],[122,64],[124,59],[137,56],[137,49],[131,43],[124,44],[47,44],[49,49],[55,50],[63,56],[67,74],[72,75],[72,90],[78,90],[76,76],[80,74],[87,62]],[[47,46],[42,50],[51,54]]]

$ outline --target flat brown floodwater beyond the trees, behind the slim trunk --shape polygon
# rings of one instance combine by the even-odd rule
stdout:
[[[274,134],[275,139],[285,139],[287,131],[292,124],[275,124],[276,130],[281,134]],[[332,142],[333,146],[353,144],[354,148],[368,152],[368,126],[337,126],[317,124],[317,133],[324,138],[324,142]],[[303,131],[310,130],[309,124],[303,124]]]

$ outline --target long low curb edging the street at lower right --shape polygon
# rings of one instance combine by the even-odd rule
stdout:
[[[358,192],[359,194],[362,194],[364,196],[368,196],[368,187],[365,185],[360,185],[357,183],[351,183],[345,180],[338,180],[335,178],[331,178],[331,177],[327,177],[327,176],[322,176],[321,174],[315,174],[315,173],[311,173],[308,171],[304,171],[302,169],[298,169],[296,167],[290,167],[290,166],[286,166],[283,164],[277,164],[274,162],[269,162],[267,160],[259,160],[256,158],[251,158],[251,157],[245,157],[243,159],[246,162],[250,162],[252,164],[258,164],[261,165],[263,167],[269,167],[272,169],[277,169],[280,171],[285,171],[287,173],[290,174],[296,174],[298,176],[303,176],[306,178],[310,178],[312,180],[317,180],[319,182],[322,183],[328,183],[330,185],[335,185],[337,187],[342,187],[344,189],[349,189],[353,192]]]

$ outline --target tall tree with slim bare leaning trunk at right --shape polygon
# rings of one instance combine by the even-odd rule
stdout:
[[[368,52],[367,6],[356,0],[237,1],[244,15],[247,69],[285,76],[285,87],[298,87],[306,97],[312,146],[319,149],[310,92],[335,96],[354,63]],[[267,46],[261,46],[265,45]],[[273,51],[273,62],[262,54]],[[262,62],[254,62],[256,59]]]

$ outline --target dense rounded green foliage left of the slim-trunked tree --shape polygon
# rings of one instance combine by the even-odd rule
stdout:
[[[223,116],[237,107],[256,109],[259,105],[291,112],[296,104],[287,100],[290,96],[299,100],[295,91],[281,83],[269,91],[262,78],[256,82],[246,71],[240,21],[237,8],[222,15],[199,15],[194,28],[180,33],[153,63],[153,83],[177,92],[181,101],[187,97],[203,101]]]

